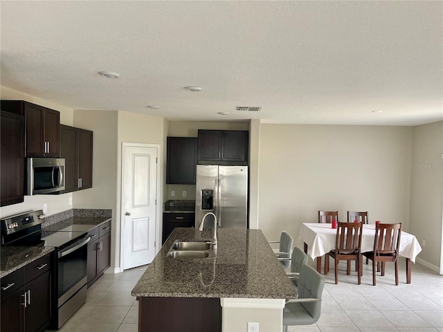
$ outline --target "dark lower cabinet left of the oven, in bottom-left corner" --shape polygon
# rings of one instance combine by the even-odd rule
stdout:
[[[51,254],[1,278],[1,331],[40,332],[51,321]]]

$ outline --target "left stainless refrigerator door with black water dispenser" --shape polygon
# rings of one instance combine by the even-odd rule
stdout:
[[[217,183],[219,167],[217,165],[197,165],[197,181],[195,183],[195,227],[199,227],[203,216],[208,212],[217,214]],[[208,208],[210,197],[213,194],[212,209]],[[210,205],[210,204],[209,204]],[[213,219],[208,216],[207,219]],[[212,228],[213,220],[205,221],[205,229]]]

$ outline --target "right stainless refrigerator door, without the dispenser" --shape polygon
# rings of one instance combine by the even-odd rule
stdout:
[[[248,225],[248,167],[219,166],[219,209],[221,228],[241,228]]]

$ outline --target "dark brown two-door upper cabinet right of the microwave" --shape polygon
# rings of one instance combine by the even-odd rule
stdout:
[[[60,125],[62,158],[65,162],[65,192],[92,187],[93,132]]]

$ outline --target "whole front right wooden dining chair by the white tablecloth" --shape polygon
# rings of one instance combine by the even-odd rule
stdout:
[[[395,263],[395,285],[399,284],[399,246],[401,223],[377,223],[375,225],[374,250],[363,252],[372,260],[372,284],[375,286],[375,262],[381,262],[381,275],[385,275],[386,261]]]

